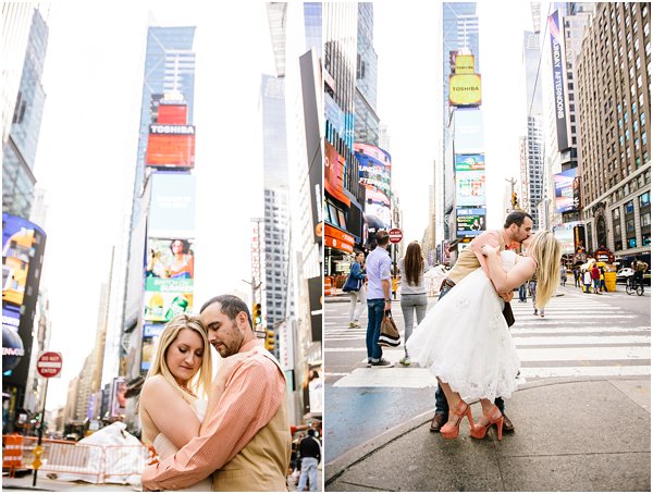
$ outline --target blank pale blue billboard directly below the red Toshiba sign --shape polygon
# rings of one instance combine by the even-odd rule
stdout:
[[[186,173],[152,173],[147,232],[153,238],[195,235],[195,177]]]

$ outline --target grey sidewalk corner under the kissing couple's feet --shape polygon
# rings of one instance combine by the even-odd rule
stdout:
[[[650,378],[527,383],[506,403],[516,432],[501,443],[494,428],[471,439],[467,420],[444,440],[429,411],[326,464],[325,490],[650,492]]]

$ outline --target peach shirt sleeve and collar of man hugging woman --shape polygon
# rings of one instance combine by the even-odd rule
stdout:
[[[243,345],[254,350],[258,339]],[[231,461],[274,417],[285,399],[285,379],[270,358],[252,353],[238,362],[225,384],[205,435],[193,439],[175,455],[143,471],[143,486],[171,491],[206,479]]]

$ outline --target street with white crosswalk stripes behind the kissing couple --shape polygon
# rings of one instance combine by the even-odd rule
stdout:
[[[567,284],[535,317],[531,299],[513,309],[517,320],[512,334],[521,357],[523,387],[547,382],[649,380],[651,295],[629,296],[624,285],[603,295],[582,294]],[[517,294],[516,294],[517,295]],[[395,362],[390,369],[366,367],[365,328],[348,329],[348,298],[328,297],[325,305],[325,394],[329,427],[325,460],[329,464],[373,439],[422,417],[431,418],[435,380],[416,363],[397,363],[403,349],[384,349]],[[430,307],[435,298],[429,298]],[[393,316],[402,332],[401,304],[393,301]],[[519,394],[519,392],[517,393]],[[509,417],[510,403],[506,411]],[[650,417],[649,417],[650,419]],[[514,419],[513,419],[514,420]],[[516,423],[519,429],[520,424]],[[325,476],[329,481],[329,473]]]

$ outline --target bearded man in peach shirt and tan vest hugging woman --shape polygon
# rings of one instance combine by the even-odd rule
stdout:
[[[214,297],[202,306],[200,318],[227,370],[215,378],[210,418],[199,436],[146,467],[144,490],[180,490],[212,474],[213,491],[287,491],[291,422],[279,362],[262,348],[241,298]]]

